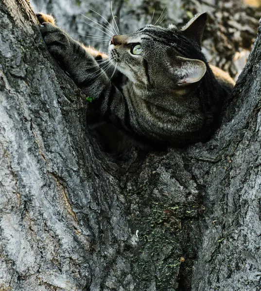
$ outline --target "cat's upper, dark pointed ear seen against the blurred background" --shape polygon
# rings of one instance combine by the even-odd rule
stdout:
[[[181,31],[183,31],[186,36],[193,39],[199,46],[201,46],[201,40],[207,22],[207,17],[208,15],[206,12],[202,14],[196,14],[181,29]]]

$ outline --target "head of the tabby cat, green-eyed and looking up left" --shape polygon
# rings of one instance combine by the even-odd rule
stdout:
[[[207,67],[201,39],[207,14],[192,18],[181,30],[147,25],[137,32],[114,35],[109,58],[131,81],[146,87],[189,87],[202,79]]]

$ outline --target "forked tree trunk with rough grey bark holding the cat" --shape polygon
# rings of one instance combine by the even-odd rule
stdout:
[[[28,3],[3,0],[0,290],[261,290],[260,48],[208,143],[115,161]]]

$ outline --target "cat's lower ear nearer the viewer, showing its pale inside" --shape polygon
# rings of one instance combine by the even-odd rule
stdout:
[[[178,86],[186,86],[200,81],[207,71],[203,61],[176,57],[173,73],[177,77]]]

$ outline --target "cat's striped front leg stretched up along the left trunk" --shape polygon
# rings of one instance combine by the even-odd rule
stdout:
[[[104,115],[116,125],[121,124],[126,130],[131,130],[126,118],[128,116],[126,100],[121,91],[104,73],[105,69],[101,68],[95,60],[97,57],[101,58],[99,52],[84,47],[52,22],[42,22],[41,19],[46,20],[46,17],[38,16],[38,19],[48,50],[86,96],[96,99],[91,104],[95,107],[96,112]],[[110,64],[108,63],[108,65]]]

